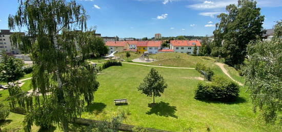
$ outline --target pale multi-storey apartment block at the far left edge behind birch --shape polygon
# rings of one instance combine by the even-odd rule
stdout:
[[[18,46],[12,46],[10,35],[13,34],[10,30],[0,30],[0,50],[5,50],[7,53],[19,54],[21,51]],[[25,33],[23,33],[25,34]]]

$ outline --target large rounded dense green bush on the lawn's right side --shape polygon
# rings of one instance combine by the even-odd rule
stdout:
[[[196,99],[234,101],[239,95],[239,87],[234,82],[222,76],[212,77],[212,83],[203,85],[199,83],[195,90]]]

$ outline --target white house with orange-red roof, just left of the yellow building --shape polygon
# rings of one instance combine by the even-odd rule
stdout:
[[[109,47],[109,54],[116,51],[123,52],[126,49],[127,42],[126,41],[107,41],[106,46]]]

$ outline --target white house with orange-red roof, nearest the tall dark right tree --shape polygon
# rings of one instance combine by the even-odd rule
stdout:
[[[195,45],[197,46],[197,54],[199,54],[199,48],[201,46],[200,41],[197,40],[171,40],[172,49],[175,52],[193,54]]]

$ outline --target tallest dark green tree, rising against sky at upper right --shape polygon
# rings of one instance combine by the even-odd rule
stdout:
[[[222,57],[230,59],[232,64],[243,63],[246,58],[247,44],[251,40],[261,39],[263,34],[264,16],[253,0],[239,0],[238,6],[232,4],[226,7],[226,13],[217,17],[214,34],[214,46],[223,46]]]

